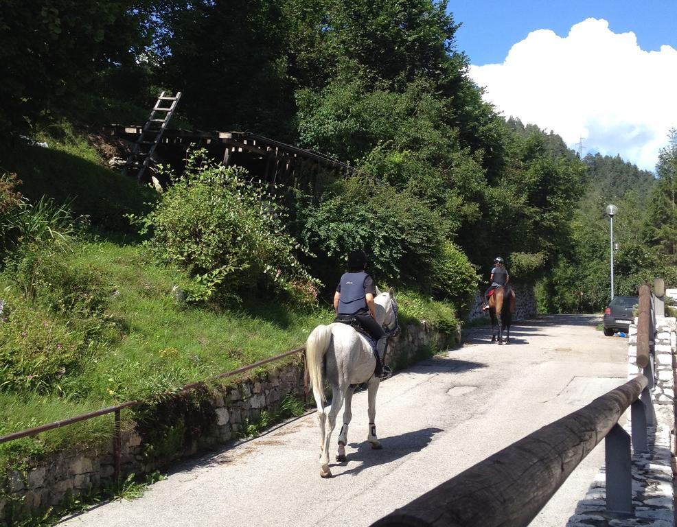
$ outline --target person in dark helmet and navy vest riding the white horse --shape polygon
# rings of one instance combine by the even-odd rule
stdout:
[[[334,311],[337,315],[354,316],[371,338],[376,340],[376,377],[388,377],[392,372],[383,365],[388,347],[388,337],[376,322],[374,294],[376,286],[366,272],[367,255],[363,250],[354,250],[348,255],[348,272],[343,273],[334,293]]]

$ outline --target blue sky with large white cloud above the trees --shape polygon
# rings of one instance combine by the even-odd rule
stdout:
[[[453,1],[457,51],[505,117],[653,170],[677,128],[677,0]]]

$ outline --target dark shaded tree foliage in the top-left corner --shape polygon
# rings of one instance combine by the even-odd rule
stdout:
[[[0,0],[0,128],[20,130],[135,68],[150,44],[147,0]]]

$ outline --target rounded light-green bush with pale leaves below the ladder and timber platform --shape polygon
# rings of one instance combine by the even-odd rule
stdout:
[[[163,261],[194,278],[189,299],[227,301],[256,287],[314,300],[317,282],[299,264],[299,245],[286,233],[284,210],[243,169],[191,154],[183,178],[144,218],[133,218]]]

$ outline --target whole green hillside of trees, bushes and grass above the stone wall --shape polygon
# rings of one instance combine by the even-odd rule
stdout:
[[[579,159],[556,131],[483,102],[447,8],[0,0],[0,435],[162,401],[301,346],[332,320],[356,248],[395,287],[402,322],[454,335],[496,256],[542,312],[603,309],[610,202],[617,294],[677,284],[677,132],[655,177]],[[105,162],[120,145],[102,126],[141,124],[165,90],[183,93],[176,125],[255,132],[354,175],[259,185],[192,151],[183,174],[155,167],[165,191],[143,187]],[[198,395],[154,423],[149,459],[197,430],[185,416]],[[110,431],[86,421],[3,443],[0,476]]]

